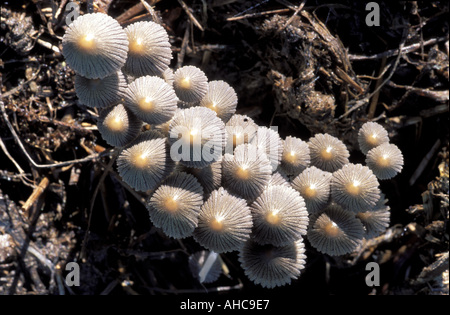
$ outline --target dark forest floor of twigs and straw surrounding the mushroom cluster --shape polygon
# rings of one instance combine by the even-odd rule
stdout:
[[[96,112],[77,102],[61,54],[67,0],[3,2],[1,8],[0,293],[182,295],[252,292],[316,295],[448,295],[449,4],[381,2],[379,26],[360,1],[139,0],[81,2],[123,26],[158,19],[171,66],[196,65],[236,91],[237,112],[280,135],[327,132],[363,161],[356,134],[386,126],[404,155],[380,183],[390,227],[355,253],[307,246],[291,285],[253,284],[236,253],[202,284],[189,267],[203,249],[152,226],[145,195],[127,189]],[[376,20],[377,16],[374,17]],[[67,285],[69,262],[80,286]],[[379,286],[366,285],[368,262]]]

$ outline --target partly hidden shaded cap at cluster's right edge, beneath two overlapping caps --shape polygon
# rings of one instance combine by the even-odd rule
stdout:
[[[366,239],[380,235],[389,227],[391,211],[386,203],[387,200],[382,194],[375,208],[370,211],[358,212],[356,214],[356,217],[364,226],[364,237]]]

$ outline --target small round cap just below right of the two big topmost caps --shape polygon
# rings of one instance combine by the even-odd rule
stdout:
[[[199,102],[208,91],[208,78],[195,66],[184,66],[174,73],[173,87],[183,102]]]

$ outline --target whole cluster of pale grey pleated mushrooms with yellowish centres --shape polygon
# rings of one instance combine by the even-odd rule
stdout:
[[[98,131],[120,151],[119,175],[146,194],[149,219],[168,237],[237,251],[248,278],[273,288],[300,276],[306,240],[344,255],[389,225],[379,180],[399,173],[403,157],[381,125],[359,130],[366,165],[329,134],[283,139],[236,114],[226,82],[191,65],[172,70],[155,22],[122,28],[85,14],[62,45],[80,103],[99,111]]]

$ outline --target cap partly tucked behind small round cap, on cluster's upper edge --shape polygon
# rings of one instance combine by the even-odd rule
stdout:
[[[200,106],[208,107],[217,113],[224,123],[236,112],[238,98],[234,89],[225,81],[210,81],[208,91],[200,101]]]

